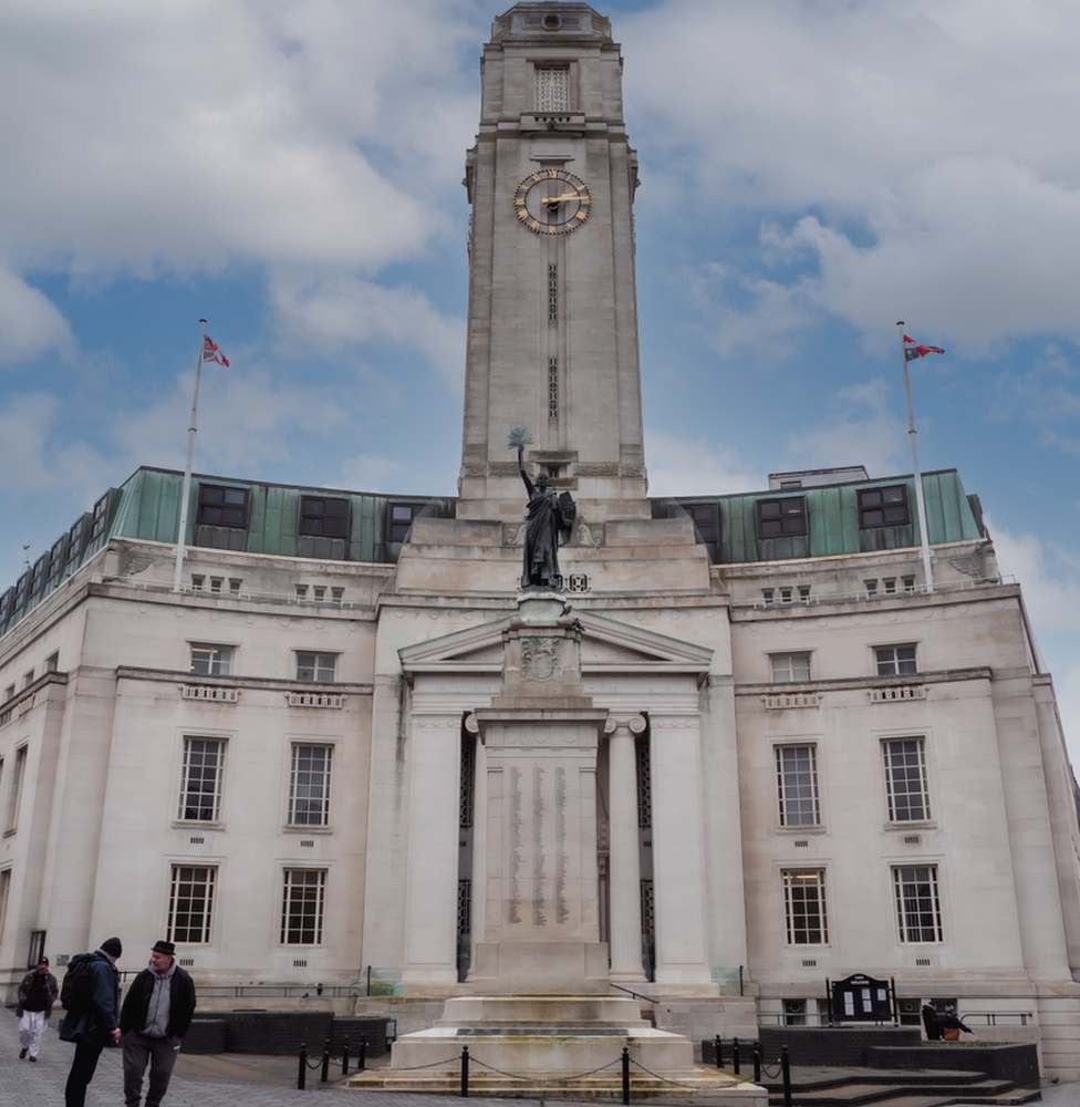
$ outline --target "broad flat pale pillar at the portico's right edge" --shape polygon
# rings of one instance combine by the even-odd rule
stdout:
[[[700,716],[650,713],[656,982],[716,994],[705,940]]]

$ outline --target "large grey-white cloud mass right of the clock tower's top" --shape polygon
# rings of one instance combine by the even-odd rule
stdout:
[[[719,352],[807,313],[868,333],[917,320],[973,354],[1003,335],[1080,339],[1071,0],[668,2],[621,25],[627,116],[644,121],[638,218],[767,226],[739,261],[749,307],[714,309]]]

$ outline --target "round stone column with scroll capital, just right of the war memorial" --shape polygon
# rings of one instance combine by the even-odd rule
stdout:
[[[634,735],[643,734],[645,720],[609,718],[608,803],[610,834],[610,915],[608,940],[611,980],[645,980],[641,950],[641,857],[637,834],[637,757]]]

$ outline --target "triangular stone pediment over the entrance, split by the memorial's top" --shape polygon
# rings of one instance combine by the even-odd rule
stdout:
[[[583,672],[708,672],[713,651],[643,627],[588,612],[580,620]],[[502,666],[509,619],[470,627],[398,650],[406,672],[495,671]]]

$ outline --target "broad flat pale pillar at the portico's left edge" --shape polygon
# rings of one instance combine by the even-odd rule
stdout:
[[[414,710],[409,746],[402,979],[456,984],[461,716]]]

